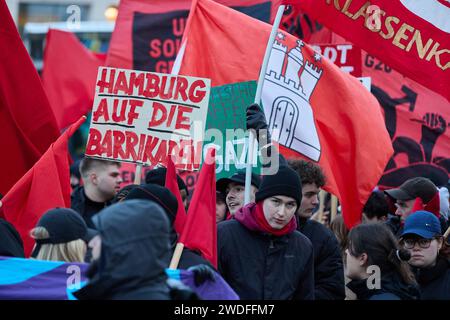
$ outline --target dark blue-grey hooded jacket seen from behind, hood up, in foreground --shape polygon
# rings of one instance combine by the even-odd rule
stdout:
[[[165,268],[170,263],[169,220],[148,200],[128,200],[94,217],[102,238],[100,258],[80,300],[169,300]]]

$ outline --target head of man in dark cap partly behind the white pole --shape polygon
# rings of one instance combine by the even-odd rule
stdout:
[[[261,178],[257,174],[252,173],[250,202],[255,202],[255,194],[258,191],[260,184]],[[228,212],[226,213],[225,219],[229,219],[244,206],[245,170],[239,170],[229,178],[217,180],[216,190],[226,195],[225,203],[227,205]]]

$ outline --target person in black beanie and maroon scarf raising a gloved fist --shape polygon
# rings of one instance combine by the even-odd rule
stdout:
[[[263,128],[264,114],[252,109],[248,129]],[[314,299],[313,247],[296,230],[300,177],[281,155],[279,163],[275,174],[263,178],[256,203],[217,225],[219,272],[242,300]]]

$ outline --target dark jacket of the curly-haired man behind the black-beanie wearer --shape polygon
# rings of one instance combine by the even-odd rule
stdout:
[[[344,266],[336,236],[323,224],[300,217],[297,230],[308,237],[314,248],[315,299],[344,300]]]

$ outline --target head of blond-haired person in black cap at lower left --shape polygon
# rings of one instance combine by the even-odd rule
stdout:
[[[87,243],[96,232],[72,209],[48,210],[30,235],[35,240],[31,257],[38,260],[84,262]]]

